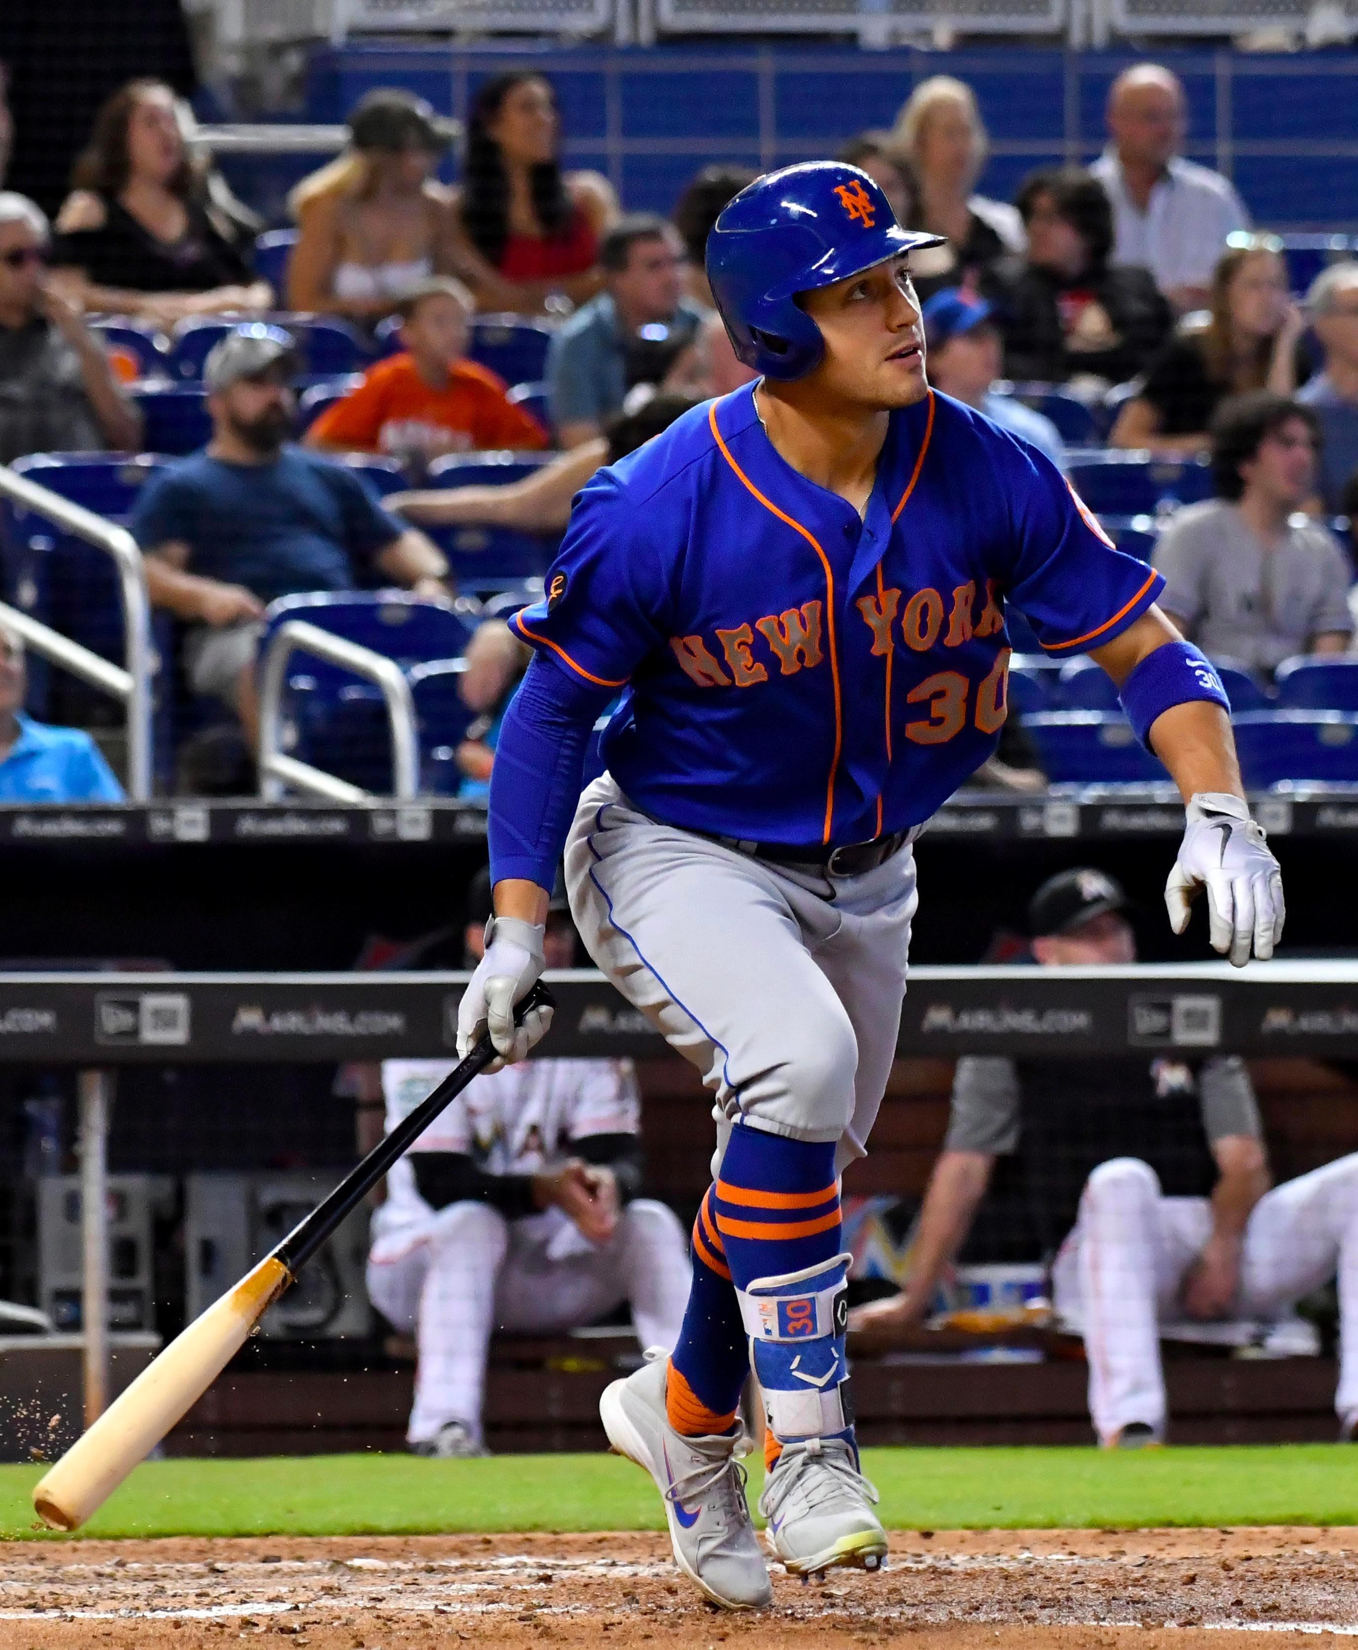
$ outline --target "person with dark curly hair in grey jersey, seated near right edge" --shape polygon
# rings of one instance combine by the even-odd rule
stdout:
[[[1315,488],[1310,408],[1257,389],[1211,422],[1216,498],[1180,510],[1155,546],[1160,607],[1213,658],[1261,676],[1294,653],[1343,653],[1348,566],[1327,528],[1299,515]]]

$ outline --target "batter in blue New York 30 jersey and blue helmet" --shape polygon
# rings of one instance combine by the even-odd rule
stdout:
[[[845,1366],[838,1175],[865,1152],[899,1030],[911,843],[995,749],[1008,604],[1089,652],[1188,802],[1173,921],[1206,884],[1242,964],[1282,926],[1226,696],[1059,472],[924,376],[909,252],[856,167],[743,190],[708,241],[736,353],[762,376],[685,414],[576,498],[490,790],[495,919],[460,1005],[507,1058],[546,1030],[558,846],[586,949],[713,1092],[716,1183],[670,1358],[611,1386],[680,1568],[718,1604],[771,1587],[741,1490],[747,1361],[764,1394],[767,1541],[789,1571],[876,1568]],[[594,719],[606,774],[578,795]]]

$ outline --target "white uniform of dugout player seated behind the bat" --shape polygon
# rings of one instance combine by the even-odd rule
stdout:
[[[411,1112],[452,1061],[388,1059],[386,1127]],[[533,1059],[477,1077],[416,1140],[413,1152],[459,1152],[488,1175],[538,1175],[571,1157],[571,1142],[640,1130],[630,1061]],[[663,1204],[637,1198],[596,1247],[561,1209],[523,1219],[482,1201],[432,1209],[403,1158],[373,1216],[368,1295],[419,1345],[411,1444],[460,1421],[480,1440],[485,1353],[493,1328],[564,1330],[632,1304],[642,1346],[673,1348],[688,1300],[683,1228]]]

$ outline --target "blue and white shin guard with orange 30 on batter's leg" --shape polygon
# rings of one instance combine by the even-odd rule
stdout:
[[[853,1426],[845,1330],[853,1261],[837,1254],[804,1272],[736,1290],[749,1355],[776,1439],[828,1437]]]

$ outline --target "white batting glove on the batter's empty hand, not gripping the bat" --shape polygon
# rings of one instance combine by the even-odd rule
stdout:
[[[1188,802],[1183,843],[1165,883],[1175,934],[1188,927],[1188,908],[1203,888],[1213,950],[1229,954],[1238,969],[1249,962],[1251,949],[1267,962],[1287,916],[1282,873],[1249,805],[1221,790],[1200,792]]]

